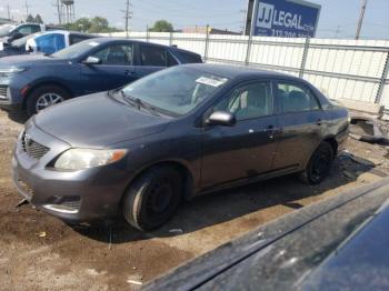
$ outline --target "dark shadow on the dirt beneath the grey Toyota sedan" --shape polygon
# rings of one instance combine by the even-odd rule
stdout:
[[[359,159],[363,161],[362,158]],[[282,205],[296,210],[303,207],[299,203],[301,199],[320,195],[355,181],[365,172],[375,171],[373,164],[365,161],[358,163],[347,155],[340,155],[335,160],[330,175],[319,185],[306,185],[296,175],[287,175],[199,197],[184,202],[167,224],[149,233],[130,228],[124,221],[117,221],[110,225],[77,225],[73,229],[101,242],[124,243],[154,237],[180,235],[181,231],[191,233],[272,207]],[[258,222],[253,222],[252,228],[259,227]]]

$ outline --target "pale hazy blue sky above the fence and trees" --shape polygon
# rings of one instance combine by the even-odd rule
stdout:
[[[0,17],[7,16],[7,4],[16,19],[26,14],[26,0],[0,0]],[[56,0],[27,0],[31,13],[40,13],[44,21],[56,21]],[[361,0],[311,0],[321,4],[317,37],[353,38]],[[123,28],[126,0],[74,0],[76,17],[102,16],[112,26]],[[133,19],[131,29],[143,31],[147,23],[166,19],[174,28],[205,26],[240,30],[243,20],[241,10],[246,0],[131,0]],[[389,0],[368,0],[362,38],[389,39]]]

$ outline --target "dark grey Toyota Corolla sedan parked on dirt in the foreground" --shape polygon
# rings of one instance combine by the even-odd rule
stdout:
[[[321,182],[348,127],[347,110],[299,78],[180,66],[34,116],[13,180],[63,220],[119,214],[147,231],[201,193],[288,173]]]

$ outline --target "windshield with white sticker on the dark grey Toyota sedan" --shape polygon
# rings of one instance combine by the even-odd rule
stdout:
[[[170,116],[183,116],[220,90],[228,78],[188,67],[167,69],[123,88],[124,98]]]

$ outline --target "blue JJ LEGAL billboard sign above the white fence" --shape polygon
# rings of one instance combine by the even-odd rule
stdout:
[[[253,36],[313,38],[320,6],[302,0],[257,0],[251,23]]]

